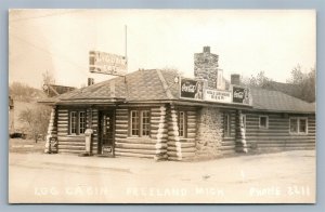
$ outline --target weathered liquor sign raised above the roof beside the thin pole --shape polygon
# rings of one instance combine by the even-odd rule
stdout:
[[[125,56],[99,51],[89,52],[89,70],[105,75],[125,76],[128,62]]]

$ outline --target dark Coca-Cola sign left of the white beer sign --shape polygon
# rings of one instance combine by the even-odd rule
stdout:
[[[182,78],[180,83],[181,98],[203,100],[203,81]]]

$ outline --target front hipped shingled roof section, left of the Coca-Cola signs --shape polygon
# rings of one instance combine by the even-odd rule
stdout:
[[[75,90],[57,96],[64,102],[127,102],[178,100],[178,83],[173,79],[176,71],[170,70],[138,70],[126,77],[116,77],[90,87]]]

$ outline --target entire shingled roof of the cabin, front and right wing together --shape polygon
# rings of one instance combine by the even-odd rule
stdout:
[[[56,97],[58,104],[178,101],[178,76],[172,70],[138,70],[126,77],[116,77],[90,87],[75,90]],[[278,91],[251,89],[252,109],[287,112],[314,112],[313,104]],[[217,104],[217,103],[216,103]]]

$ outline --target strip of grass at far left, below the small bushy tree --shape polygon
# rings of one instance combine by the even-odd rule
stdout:
[[[34,140],[22,140],[22,138],[10,138],[9,140],[9,153],[17,154],[32,154],[32,153],[44,153],[46,142],[38,141],[35,143]]]

